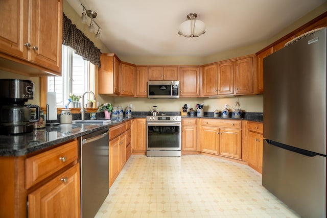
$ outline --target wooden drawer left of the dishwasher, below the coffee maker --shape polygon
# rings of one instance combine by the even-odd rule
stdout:
[[[30,188],[64,166],[74,162],[77,157],[77,140],[75,140],[27,158],[25,161],[26,188]]]

